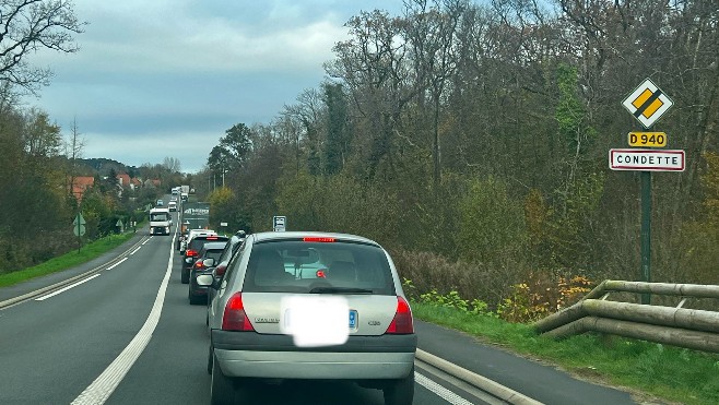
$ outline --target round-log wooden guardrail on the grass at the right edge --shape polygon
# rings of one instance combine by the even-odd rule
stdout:
[[[681,297],[676,307],[611,301],[612,293]],[[533,324],[555,338],[593,331],[719,353],[719,312],[682,308],[687,298],[719,298],[719,286],[604,281],[574,306]]]

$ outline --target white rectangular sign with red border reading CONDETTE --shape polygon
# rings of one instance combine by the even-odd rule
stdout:
[[[684,171],[684,151],[610,150],[612,170]]]

